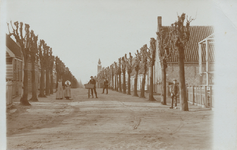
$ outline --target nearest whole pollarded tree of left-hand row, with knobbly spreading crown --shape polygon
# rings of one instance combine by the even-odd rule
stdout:
[[[12,33],[9,35],[13,35],[16,39],[16,42],[21,47],[21,52],[24,57],[24,81],[23,81],[23,95],[20,99],[20,103],[22,105],[31,105],[28,101],[28,61],[29,61],[29,48],[30,48],[30,26],[25,24],[25,36],[23,35],[23,23],[18,21],[14,22],[15,28],[12,26]],[[9,30],[10,32],[10,30]]]

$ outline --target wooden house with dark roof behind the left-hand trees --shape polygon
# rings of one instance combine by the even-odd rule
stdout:
[[[20,45],[6,35],[6,80],[12,81],[12,95],[21,95],[24,82],[24,61]],[[40,83],[40,65],[35,62],[36,89]],[[28,61],[28,91],[32,91],[32,63]]]

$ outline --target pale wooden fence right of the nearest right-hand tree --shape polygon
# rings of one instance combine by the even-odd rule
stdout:
[[[188,86],[187,98],[190,104],[214,108],[213,86]]]

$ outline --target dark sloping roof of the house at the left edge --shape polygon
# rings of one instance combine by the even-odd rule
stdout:
[[[6,35],[6,46],[16,58],[22,59],[21,47],[9,35]]]

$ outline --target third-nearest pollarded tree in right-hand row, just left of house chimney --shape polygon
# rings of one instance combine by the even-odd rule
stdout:
[[[155,55],[156,55],[156,40],[151,38],[150,40],[150,49],[148,49],[147,57],[148,57],[148,65],[149,65],[149,79],[150,79],[150,86],[149,86],[149,100],[154,101],[155,98],[153,96],[153,66],[155,64]]]

